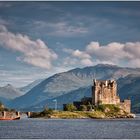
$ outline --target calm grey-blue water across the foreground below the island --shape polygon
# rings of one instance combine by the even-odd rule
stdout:
[[[21,119],[0,121],[0,138],[140,139],[140,116],[135,119]]]

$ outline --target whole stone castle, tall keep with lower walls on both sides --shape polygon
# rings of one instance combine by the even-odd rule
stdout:
[[[94,106],[100,104],[114,104],[119,106],[124,111],[131,112],[131,101],[126,99],[120,100],[117,94],[117,83],[115,80],[97,81],[93,80],[92,97],[84,97],[81,101],[73,102],[78,108],[82,104],[91,103]]]

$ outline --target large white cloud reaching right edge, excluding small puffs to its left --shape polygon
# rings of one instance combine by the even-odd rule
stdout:
[[[118,43],[112,42],[100,46],[98,42],[91,42],[86,50],[93,60],[106,61],[119,65],[121,62],[129,67],[140,67],[140,42]]]

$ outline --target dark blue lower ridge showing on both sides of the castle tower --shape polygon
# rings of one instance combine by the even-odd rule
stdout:
[[[123,101],[124,99],[131,99],[132,111],[140,112],[140,74],[130,74],[124,78],[119,78],[118,94]],[[39,104],[36,104],[27,110],[42,110],[45,106],[54,108],[54,101],[57,100],[58,109],[63,108],[63,104],[72,103],[73,101],[80,101],[84,96],[91,97],[91,86],[79,88],[77,90],[68,92],[67,94],[58,96],[52,99],[46,99]]]

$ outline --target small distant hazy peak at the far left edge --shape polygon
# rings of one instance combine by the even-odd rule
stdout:
[[[9,100],[21,95],[22,93],[10,84],[7,84],[4,87],[0,87],[0,101],[6,105],[8,104]]]

